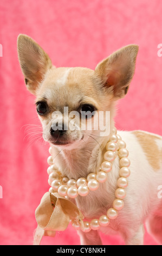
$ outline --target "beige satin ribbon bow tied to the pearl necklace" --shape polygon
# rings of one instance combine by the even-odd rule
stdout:
[[[34,245],[40,245],[43,235],[55,235],[63,231],[70,220],[83,224],[83,215],[75,204],[58,193],[47,192],[35,211],[38,227],[34,235]]]

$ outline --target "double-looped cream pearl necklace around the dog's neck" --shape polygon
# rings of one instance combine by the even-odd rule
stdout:
[[[107,180],[107,173],[111,172],[112,164],[117,154],[119,156],[119,175],[120,178],[117,181],[118,188],[115,191],[115,199],[112,204],[112,208],[107,210],[107,215],[100,216],[99,219],[93,219],[92,221],[83,221],[82,226],[78,220],[72,222],[73,227],[76,230],[81,229],[84,232],[89,232],[91,229],[98,230],[101,227],[106,227],[110,220],[114,220],[118,217],[118,211],[124,207],[123,199],[126,197],[125,188],[128,186],[127,177],[130,175],[130,161],[128,159],[128,150],[126,149],[126,143],[122,141],[121,136],[117,135],[117,131],[114,128],[109,141],[106,144],[106,153],[103,155],[103,161],[98,173],[90,173],[87,178],[68,179],[62,176],[56,164],[53,163],[53,157],[51,156],[51,147],[49,148],[50,156],[48,157],[48,164],[50,167],[47,169],[49,175],[48,183],[51,186],[50,193],[58,192],[60,196],[66,198],[76,198],[77,196],[85,197],[90,191],[98,190],[99,183]]]

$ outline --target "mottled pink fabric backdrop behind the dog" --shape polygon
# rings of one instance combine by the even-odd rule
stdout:
[[[1,167],[0,244],[31,245],[36,228],[35,209],[48,191],[48,145],[34,139],[40,125],[34,96],[25,89],[17,59],[20,33],[34,38],[59,66],[96,64],[127,44],[138,44],[135,75],[120,100],[116,127],[122,130],[161,130],[162,2],[160,0],[28,0],[0,2]],[[25,129],[27,128],[26,132]],[[29,130],[31,129],[31,130]],[[37,136],[36,136],[37,137]],[[120,237],[103,236],[103,245],[124,244]],[[42,244],[77,245],[72,227]],[[155,245],[147,233],[145,245]]]

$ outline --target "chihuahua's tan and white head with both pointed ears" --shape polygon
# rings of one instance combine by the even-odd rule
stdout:
[[[66,149],[98,138],[111,127],[114,102],[124,97],[134,75],[137,45],[102,60],[95,70],[56,68],[29,36],[18,36],[18,58],[27,89],[36,96],[45,141]],[[110,118],[109,118],[110,117]],[[101,124],[102,122],[102,124]],[[107,135],[106,133],[102,133]]]

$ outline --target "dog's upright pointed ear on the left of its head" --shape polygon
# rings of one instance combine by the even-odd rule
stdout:
[[[29,36],[20,34],[17,39],[18,59],[27,89],[36,94],[38,84],[52,67],[48,54]]]

